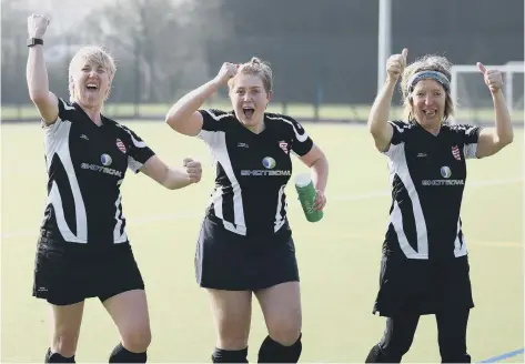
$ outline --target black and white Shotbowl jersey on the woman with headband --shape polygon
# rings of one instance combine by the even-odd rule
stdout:
[[[467,254],[460,211],[466,159],[476,158],[479,128],[444,123],[437,135],[416,122],[391,121],[392,205],[386,255],[428,260]]]

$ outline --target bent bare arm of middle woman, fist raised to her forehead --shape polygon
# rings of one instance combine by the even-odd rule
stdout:
[[[204,101],[236,73],[236,64],[224,63],[219,74],[198,89],[190,91],[168,111],[165,122],[181,134],[194,136],[202,129],[203,119],[198,111]]]

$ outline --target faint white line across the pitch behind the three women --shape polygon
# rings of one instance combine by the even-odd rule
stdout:
[[[486,185],[504,185],[504,184],[513,184],[523,182],[523,178],[508,178],[508,179],[499,179],[499,180],[487,180],[487,181],[474,181],[466,184],[466,189],[470,188],[479,188]],[[386,198],[391,195],[391,191],[374,191],[370,193],[363,194],[343,194],[336,195],[332,198],[333,201],[361,201],[361,200],[371,200],[377,198]],[[130,223],[133,225],[138,224],[147,224],[150,222],[155,221],[173,221],[173,220],[185,220],[185,219],[195,219],[195,218],[204,218],[204,211],[202,212],[186,212],[186,213],[176,213],[176,214],[164,214],[164,215],[150,215],[150,216],[141,216],[137,219],[130,219]],[[14,232],[7,232],[2,233],[3,239],[11,239],[11,237],[22,237],[22,236],[38,236],[38,226],[33,230],[22,230],[22,231],[14,231]]]

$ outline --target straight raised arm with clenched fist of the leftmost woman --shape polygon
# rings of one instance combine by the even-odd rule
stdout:
[[[29,38],[43,41],[43,34],[48,24],[48,18],[31,14],[28,18]],[[54,123],[59,115],[59,101],[49,91],[48,70],[46,69],[42,44],[34,44],[29,48],[26,77],[28,80],[29,98],[39,110],[40,117],[48,125]]]

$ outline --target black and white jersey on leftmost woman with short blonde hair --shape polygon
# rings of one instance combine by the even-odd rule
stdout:
[[[93,123],[77,103],[59,100],[43,125],[48,200],[41,236],[58,246],[103,249],[128,243],[121,184],[154,154],[130,129],[108,118]]]

